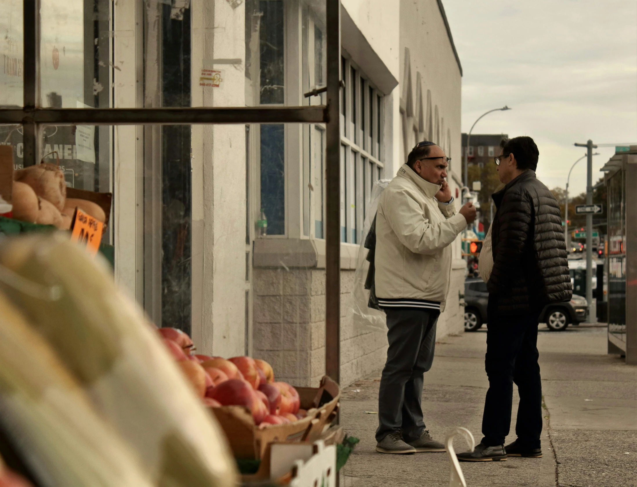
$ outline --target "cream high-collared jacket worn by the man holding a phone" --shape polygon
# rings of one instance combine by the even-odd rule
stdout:
[[[378,201],[375,285],[378,299],[440,302],[445,309],[452,249],[467,226],[455,202],[439,203],[440,185],[421,178],[407,164]]]

